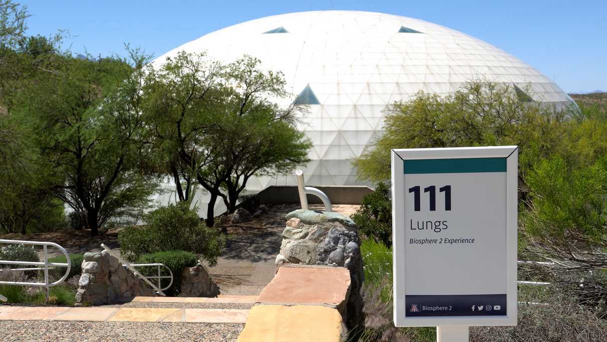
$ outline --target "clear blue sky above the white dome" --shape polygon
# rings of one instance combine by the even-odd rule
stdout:
[[[19,0],[16,0],[19,1]],[[69,30],[74,53],[124,55],[124,43],[159,56],[222,27],[280,13],[366,10],[444,24],[517,56],[567,92],[607,91],[605,0],[20,1],[29,34]]]

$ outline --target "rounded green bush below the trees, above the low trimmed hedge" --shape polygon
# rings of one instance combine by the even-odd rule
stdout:
[[[185,250],[217,263],[225,237],[206,227],[194,210],[183,203],[168,205],[143,216],[147,225],[126,227],[118,234],[121,253],[130,261],[157,251]]]

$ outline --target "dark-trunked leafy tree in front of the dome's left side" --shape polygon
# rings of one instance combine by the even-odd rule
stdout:
[[[296,129],[304,108],[274,103],[288,95],[285,80],[256,58],[222,64],[180,52],[144,80],[156,168],[172,176],[180,200],[191,200],[194,183],[211,194],[209,226],[218,197],[233,211],[254,174],[286,173],[308,160],[310,142]]]

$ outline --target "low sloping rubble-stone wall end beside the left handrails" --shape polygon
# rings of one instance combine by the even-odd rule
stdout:
[[[123,267],[107,251],[84,253],[76,305],[110,304],[118,298],[155,295],[149,284]]]

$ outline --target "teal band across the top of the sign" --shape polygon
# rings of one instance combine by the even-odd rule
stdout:
[[[506,158],[403,160],[405,174],[506,172]]]

